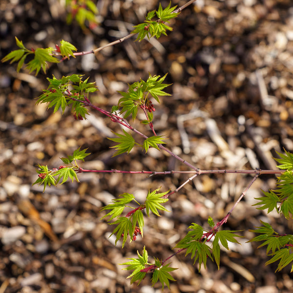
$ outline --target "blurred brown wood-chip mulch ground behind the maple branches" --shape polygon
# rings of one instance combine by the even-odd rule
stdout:
[[[183,5],[185,1],[172,1]],[[163,1],[163,7],[167,6]],[[65,21],[57,0],[2,0],[0,58],[16,49],[14,36],[28,48],[55,47],[61,40],[79,51],[123,37],[144,20],[157,1],[98,1],[101,24],[84,31]],[[55,114],[36,98],[46,77],[73,73],[90,76],[99,92],[92,101],[110,110],[118,90],[127,90],[148,74],[167,75],[170,97],[155,104],[154,127],[168,137],[173,152],[201,169],[274,169],[276,151],[293,151],[293,7],[291,0],[197,0],[170,25],[159,40],[130,39],[101,51],[54,64],[47,74],[16,72],[15,64],[0,67],[0,293],[161,292],[130,285],[120,263],[144,246],[150,257],[172,254],[191,223],[208,229],[207,219],[222,219],[251,180],[251,175],[202,175],[173,194],[163,217],[145,219],[144,238],[121,249],[109,235],[101,208],[123,192],[143,202],[147,191],[174,190],[188,175],[80,174],[80,184],[57,188],[32,186],[37,164],[58,168],[60,157],[79,146],[90,156],[84,168],[122,170],[188,170],[166,153],[134,149],[112,157],[106,139],[121,127],[98,113],[75,121],[66,110]],[[150,135],[148,127],[134,123]],[[269,222],[280,233],[292,233],[292,222],[252,207],[261,189],[274,188],[275,176],[261,176],[230,216],[225,229],[242,230],[242,245],[223,250],[221,266],[208,260],[198,272],[189,256],[171,259],[176,282],[164,292],[277,293],[292,292],[290,267],[276,272],[265,266],[265,249],[246,243],[249,231]],[[150,259],[150,258],[149,258]]]

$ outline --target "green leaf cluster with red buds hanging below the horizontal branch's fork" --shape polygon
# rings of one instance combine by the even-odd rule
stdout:
[[[160,188],[159,188],[160,189]],[[122,247],[124,247],[127,236],[130,236],[130,242],[132,241],[132,235],[136,227],[141,230],[142,236],[144,235],[144,215],[143,209],[146,209],[146,213],[149,216],[149,211],[154,213],[157,216],[160,216],[158,210],[165,210],[161,204],[168,201],[164,196],[169,192],[158,192],[159,189],[155,189],[154,191],[148,191],[146,196],[146,201],[144,204],[139,204],[133,194],[123,193],[120,195],[120,198],[116,198],[112,201],[111,204],[105,206],[102,210],[110,210],[103,218],[110,216],[107,221],[111,221],[114,218],[117,218],[115,222],[110,225],[117,225],[117,227],[113,230],[112,234],[116,234],[115,244],[117,244],[118,240],[123,238]],[[134,201],[138,208],[134,208],[129,206],[132,201]],[[128,212],[126,216],[121,216],[124,212],[124,209],[128,207],[132,209],[132,211]],[[102,219],[103,219],[102,218]],[[110,235],[110,236],[111,236]]]

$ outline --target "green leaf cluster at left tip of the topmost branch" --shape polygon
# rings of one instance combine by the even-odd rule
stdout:
[[[22,41],[20,41],[17,37],[15,37],[16,44],[20,49],[11,51],[8,55],[1,59],[1,62],[10,61],[11,63],[17,62],[17,71],[21,70],[21,67],[25,65],[25,67],[29,70],[29,73],[36,70],[36,75],[39,73],[42,68],[43,72],[46,73],[46,68],[48,67],[48,62],[50,63],[59,63],[60,60],[57,59],[54,55],[57,50],[54,48],[37,48],[35,49],[27,49]],[[66,42],[64,40],[61,41],[60,46],[56,45],[58,48],[58,52],[61,53],[62,57],[69,58],[73,56],[73,51],[76,51],[76,47],[72,45],[70,42]],[[34,55],[34,58],[29,61],[27,64],[24,63],[25,59],[29,55]]]

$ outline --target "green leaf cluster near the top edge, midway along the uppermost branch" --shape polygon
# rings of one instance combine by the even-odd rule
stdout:
[[[163,9],[160,3],[158,10],[152,10],[147,13],[146,20],[143,23],[134,26],[133,34],[138,34],[138,41],[142,41],[145,37],[150,39],[156,37],[159,39],[161,34],[167,36],[167,30],[172,31],[172,28],[166,24],[169,20],[177,17],[179,13],[174,13],[177,6],[169,5]],[[157,20],[153,20],[156,16]]]

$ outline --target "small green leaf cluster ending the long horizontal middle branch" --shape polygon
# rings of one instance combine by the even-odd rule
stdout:
[[[69,155],[66,158],[61,158],[63,163],[68,164],[68,166],[61,166],[59,169],[56,169],[56,168],[48,169],[47,166],[38,164],[37,165],[38,168],[36,169],[36,171],[39,174],[39,178],[33,183],[33,185],[43,184],[44,185],[43,191],[45,191],[47,185],[49,187],[51,185],[56,186],[59,182],[61,182],[60,184],[63,184],[64,182],[67,181],[68,177],[72,180],[72,182],[74,181],[74,179],[77,182],[79,182],[76,175],[76,171],[78,171],[79,166],[76,161],[80,160],[84,162],[84,158],[89,155],[89,153],[86,153],[85,151],[86,149],[80,150],[80,147],[79,147],[73,152],[72,156]],[[73,161],[74,161],[74,164],[72,164]],[[54,178],[56,176],[58,176],[57,179]]]

